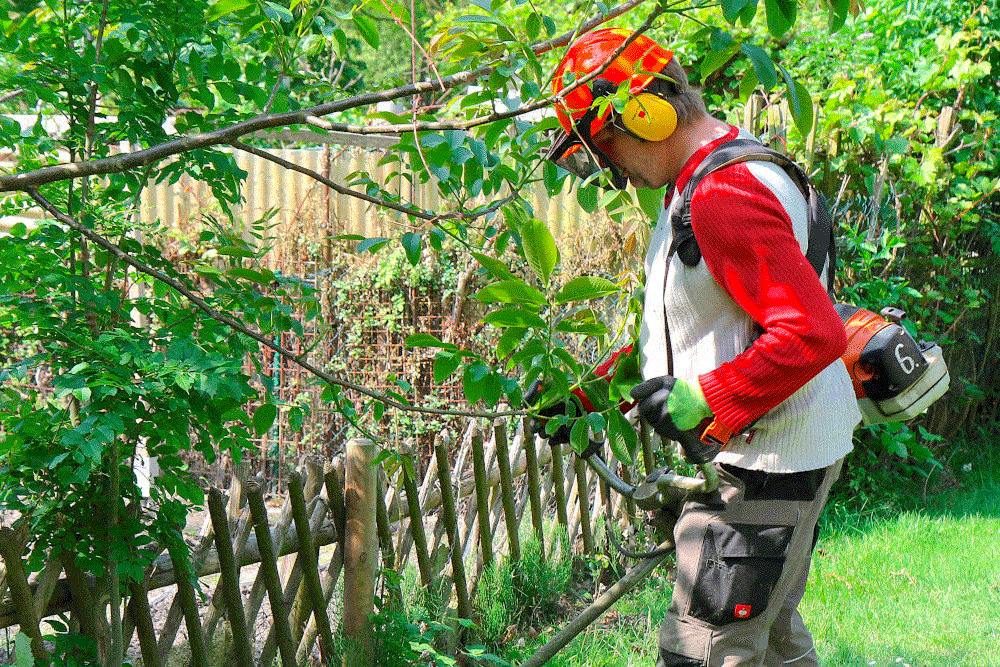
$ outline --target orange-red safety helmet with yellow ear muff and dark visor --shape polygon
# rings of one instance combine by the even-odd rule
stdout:
[[[556,102],[556,117],[562,126],[562,132],[553,139],[547,158],[580,176],[592,174],[597,168],[611,168],[613,180],[619,188],[625,186],[624,178],[593,141],[594,135],[612,119],[612,107],[607,105],[601,113],[593,102],[597,98],[614,94],[626,82],[632,99],[636,99],[674,55],[649,37],[639,35],[618,56],[611,59],[631,36],[631,31],[622,28],[602,28],[583,35],[570,46],[559,63],[552,85],[553,92],[559,95],[564,89],[571,87],[574,81],[594,71],[601,71],[599,76],[582,86],[572,88]],[[643,139],[656,140],[669,135],[676,126],[673,107],[659,97],[645,97],[648,99],[632,104],[631,110],[629,105],[626,106],[626,111],[622,114],[624,129]],[[669,113],[652,114],[658,118],[651,123],[647,114],[650,104],[655,105],[657,110],[667,107]],[[659,118],[664,115],[669,116],[666,130],[662,127],[662,118]],[[591,156],[578,154],[582,145],[586,145],[597,157],[599,166],[593,165]]]

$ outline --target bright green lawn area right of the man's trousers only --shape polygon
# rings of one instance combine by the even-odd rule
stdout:
[[[821,540],[802,614],[829,667],[1000,665],[1000,486]]]

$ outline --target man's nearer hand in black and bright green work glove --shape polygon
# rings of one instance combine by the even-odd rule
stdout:
[[[712,409],[697,383],[663,375],[637,384],[630,394],[642,418],[660,437],[679,442],[691,463],[708,463],[719,453],[720,446],[701,440]]]

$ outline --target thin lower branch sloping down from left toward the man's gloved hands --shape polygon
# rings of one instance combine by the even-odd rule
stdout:
[[[330,373],[327,373],[326,371],[317,368],[316,366],[309,363],[304,358],[304,355],[296,354],[295,352],[289,350],[288,348],[282,347],[281,345],[270,340],[267,336],[264,336],[262,334],[257,333],[256,331],[247,328],[236,319],[228,315],[225,315],[224,313],[220,313],[215,308],[210,306],[200,296],[198,296],[193,291],[185,287],[180,281],[171,278],[162,271],[158,271],[157,269],[154,269],[151,266],[143,264],[139,260],[133,258],[131,255],[126,253],[124,250],[119,248],[117,245],[115,245],[111,241],[107,240],[106,238],[98,234],[97,232],[85,227],[72,217],[63,213],[55,204],[53,204],[44,196],[42,196],[37,190],[29,189],[27,193],[32,199],[38,202],[38,204],[42,208],[44,208],[46,211],[51,213],[57,220],[59,220],[59,222],[75,230],[76,232],[83,235],[96,245],[104,248],[105,250],[110,252],[113,256],[118,258],[119,261],[128,264],[129,266],[134,268],[136,271],[139,271],[140,273],[144,273],[147,276],[150,276],[155,280],[159,280],[165,285],[170,286],[176,292],[181,294],[184,298],[193,303],[199,310],[201,310],[203,313],[211,317],[216,322],[224,324],[227,327],[235,331],[238,331],[239,333],[249,336],[250,338],[260,343],[261,345],[267,347],[276,354],[281,355],[286,359],[289,359],[293,363],[300,366],[302,369],[308,371],[313,376],[319,378],[320,380],[326,382],[329,385],[357,392],[371,399],[379,401],[380,403],[385,404],[387,407],[396,408],[398,410],[406,410],[408,412],[420,412],[423,414],[441,415],[449,417],[481,417],[489,419],[493,419],[496,417],[511,417],[515,415],[526,414],[526,411],[524,410],[511,410],[507,412],[481,412],[481,411],[445,410],[441,408],[425,408],[425,407],[407,405],[405,403],[401,403],[392,398],[384,396],[379,392],[371,390],[365,386],[356,384],[354,382],[349,382],[347,380],[341,380],[340,378]]]

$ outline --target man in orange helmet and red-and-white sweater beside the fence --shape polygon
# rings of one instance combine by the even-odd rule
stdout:
[[[674,526],[657,665],[816,665],[797,606],[860,413],[839,360],[844,326],[803,255],[805,200],[771,163],[712,172],[690,199],[700,258],[682,260],[671,247],[680,193],[739,130],[706,113],[670,51],[628,31],[582,36],[554,85],[564,132],[550,159],[596,163],[619,188],[672,184],[646,254],[644,382],[632,395],[689,459],[714,456],[721,486],[689,497]]]

